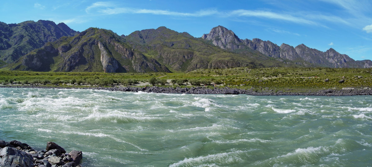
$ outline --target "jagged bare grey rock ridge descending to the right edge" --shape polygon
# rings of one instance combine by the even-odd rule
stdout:
[[[209,40],[213,45],[222,49],[237,50],[241,48],[250,48],[259,51],[263,55],[290,60],[301,66],[324,66],[330,68],[366,68],[372,66],[370,61],[355,61],[347,55],[340,54],[330,48],[326,52],[317,49],[311,49],[304,44],[295,48],[285,43],[276,45],[270,41],[260,39],[239,39],[231,30],[222,26],[214,27],[211,32],[204,34],[203,39]]]

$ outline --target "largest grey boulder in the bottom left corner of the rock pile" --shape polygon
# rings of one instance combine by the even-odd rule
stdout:
[[[0,150],[1,167],[32,167],[33,158],[30,154],[12,147],[4,147]]]

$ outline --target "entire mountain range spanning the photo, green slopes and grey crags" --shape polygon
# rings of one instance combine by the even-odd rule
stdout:
[[[371,68],[334,49],[321,52],[260,39],[239,39],[222,26],[202,37],[166,27],[128,36],[89,28],[76,32],[52,21],[0,22],[0,65],[4,70],[55,72],[189,72],[234,67]]]

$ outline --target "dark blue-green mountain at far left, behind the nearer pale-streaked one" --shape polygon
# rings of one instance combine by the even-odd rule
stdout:
[[[0,59],[7,63],[18,60],[31,50],[41,48],[62,36],[74,36],[78,32],[66,24],[52,21],[26,21],[19,24],[0,23]]]

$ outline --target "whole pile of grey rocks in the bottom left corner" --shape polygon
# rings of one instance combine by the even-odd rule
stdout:
[[[20,141],[0,140],[0,167],[80,167],[81,151],[66,153],[59,145],[48,142],[45,150],[37,151]]]

